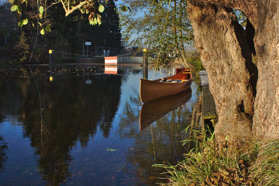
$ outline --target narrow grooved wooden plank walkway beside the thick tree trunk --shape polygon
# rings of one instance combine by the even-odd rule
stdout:
[[[209,91],[209,86],[203,86],[202,93],[202,120],[217,118],[216,105],[212,94]]]

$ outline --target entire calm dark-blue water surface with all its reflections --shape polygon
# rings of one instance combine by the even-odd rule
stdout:
[[[165,109],[142,108],[139,66],[117,74],[104,66],[31,69],[34,76],[28,66],[0,69],[0,185],[154,185],[164,169],[153,164],[184,158],[182,131],[200,94],[194,82],[169,98],[173,108],[166,100]]]

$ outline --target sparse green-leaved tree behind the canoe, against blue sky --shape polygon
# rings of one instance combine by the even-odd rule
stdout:
[[[131,41],[131,45],[144,45],[151,53],[158,54],[159,65],[169,65],[175,58],[186,66],[192,66],[185,53],[185,47],[193,43],[193,30],[187,17],[186,1],[171,1],[168,14],[169,1],[154,0],[133,0],[124,1],[129,4],[129,13],[120,12],[120,25],[124,28],[124,39],[130,40],[131,37],[138,35]],[[137,13],[142,12],[143,16]],[[164,33],[166,22],[166,29]],[[164,40],[162,40],[164,35]]]

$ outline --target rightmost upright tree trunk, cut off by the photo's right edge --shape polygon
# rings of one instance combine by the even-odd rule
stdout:
[[[279,138],[279,1],[258,1],[255,34],[258,65],[253,135],[259,140]]]

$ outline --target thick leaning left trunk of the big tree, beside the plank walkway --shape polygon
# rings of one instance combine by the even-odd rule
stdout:
[[[226,144],[229,135],[229,149],[246,149],[254,115],[251,78],[257,69],[244,30],[232,10],[221,5],[188,0],[188,16],[218,111],[216,140]]]

